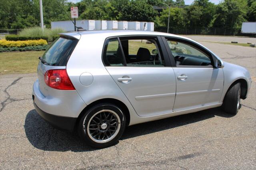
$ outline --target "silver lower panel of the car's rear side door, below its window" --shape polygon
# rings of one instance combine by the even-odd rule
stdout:
[[[176,81],[172,67],[106,67],[141,117],[172,112]],[[129,77],[129,82],[118,81]]]

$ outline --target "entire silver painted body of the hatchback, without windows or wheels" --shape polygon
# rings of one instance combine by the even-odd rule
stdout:
[[[250,87],[251,82],[248,71],[243,67],[230,63],[225,63],[223,69],[205,68],[204,71],[207,70],[206,75],[199,73],[201,69],[193,68],[160,67],[158,69],[157,67],[151,67],[147,69],[141,67],[105,67],[102,63],[102,49],[106,38],[131,35],[166,36],[182,38],[183,40],[189,40],[201,45],[194,40],[182,36],[162,32],[127,30],[86,31],[62,35],[80,38],[66,67],[60,67],[66,68],[76,90],[62,91],[52,89],[44,84],[43,75],[45,71],[56,69],[57,67],[46,66],[41,62],[38,66],[40,85],[39,81],[36,81],[33,87],[36,105],[45,112],[54,115],[78,117],[82,110],[94,101],[99,99],[117,99],[128,108],[130,113],[129,125],[134,125],[219,107],[222,105],[226,91],[237,79],[245,79],[248,87]],[[203,45],[201,46],[204,47]],[[206,47],[204,48],[207,49]],[[214,53],[212,54],[217,59],[220,59]],[[129,71],[129,74],[126,71]],[[148,75],[143,75],[148,73],[148,71],[152,76],[151,79],[147,77]],[[162,73],[163,75],[160,76]],[[189,78],[184,82],[178,82],[177,76],[182,73],[186,73]],[[120,83],[117,80],[122,78],[120,75],[132,76],[132,81],[130,83]],[[158,78],[156,79],[156,77]],[[166,77],[170,79],[165,79]],[[163,81],[164,85],[158,81]],[[128,89],[128,86],[132,89]],[[193,103],[198,98],[198,103]]]

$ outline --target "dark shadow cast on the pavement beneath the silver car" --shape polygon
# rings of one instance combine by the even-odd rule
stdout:
[[[167,119],[127,127],[121,139],[133,138],[170,128],[180,127],[190,123],[210,119],[215,116],[232,117],[232,115],[223,112],[219,108],[208,109],[196,113],[170,117]],[[78,137],[78,134],[58,130],[49,125],[40,117],[40,115],[38,115],[35,109],[28,112],[24,128],[29,142],[34,147],[41,150],[62,152],[69,150],[73,152],[96,150],[95,148],[85,144]]]

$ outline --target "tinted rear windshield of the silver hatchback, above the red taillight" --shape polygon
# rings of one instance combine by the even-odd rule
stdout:
[[[78,40],[60,37],[45,51],[42,58],[54,66],[66,66]]]

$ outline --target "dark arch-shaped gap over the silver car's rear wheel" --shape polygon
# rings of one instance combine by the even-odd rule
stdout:
[[[105,98],[105,99],[99,99],[99,100],[96,100],[92,103],[90,103],[89,105],[87,105],[82,111],[81,113],[79,114],[78,116],[78,119],[76,120],[76,127],[78,125],[78,122],[80,121],[81,117],[84,115],[84,113],[90,109],[91,107],[97,105],[97,104],[100,104],[100,103],[111,103],[111,104],[114,104],[114,105],[117,105],[120,107],[120,109],[123,111],[125,117],[126,117],[126,126],[128,126],[130,124],[130,112],[129,112],[129,109],[128,107],[120,100],[117,100],[117,99],[112,99],[112,98]]]

